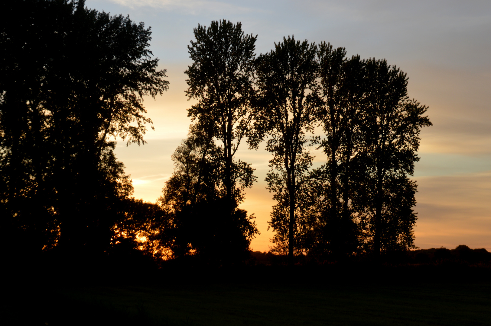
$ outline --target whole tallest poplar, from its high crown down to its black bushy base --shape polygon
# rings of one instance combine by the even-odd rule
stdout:
[[[250,239],[257,233],[246,211],[237,207],[244,200],[243,190],[251,187],[256,179],[254,169],[250,164],[235,159],[240,143],[251,131],[256,37],[246,35],[241,23],[232,24],[225,20],[213,21],[209,27],[198,25],[193,31],[195,41],[188,46],[193,63],[185,73],[189,76],[186,94],[189,99],[198,100],[188,109],[188,115],[197,120],[197,124],[191,128],[190,137],[174,153],[173,158],[178,165],[173,178],[164,188],[164,202],[168,202],[166,198],[170,194],[178,191],[179,176],[184,176],[185,184],[191,184],[192,180],[193,188],[207,190],[207,193],[198,193],[199,200],[190,201],[190,205],[186,206],[187,209],[193,207],[197,213],[180,211],[182,223],[189,220],[194,224],[188,224],[183,229],[191,227],[201,233],[200,236],[193,233],[196,236],[189,242],[189,248],[194,247],[199,253],[205,250],[203,246],[220,244],[218,247],[213,245],[213,248],[214,251],[226,251],[222,257],[242,256],[248,250]],[[202,136],[195,132],[196,127],[202,129],[201,133],[207,139],[205,143],[211,147],[202,147],[199,143]],[[215,145],[215,139],[219,146]],[[184,161],[180,160],[180,157],[191,161],[195,159],[190,146],[204,150],[198,154],[202,158],[199,165],[201,177],[189,175]],[[208,153],[208,150],[211,152]],[[214,164],[216,171],[213,172],[217,174],[211,176],[209,173],[212,171],[202,170],[203,164]],[[210,181],[206,185],[205,179]],[[191,193],[188,190],[184,192],[185,196]],[[196,193],[193,196],[196,198]],[[215,240],[198,240],[200,237]]]

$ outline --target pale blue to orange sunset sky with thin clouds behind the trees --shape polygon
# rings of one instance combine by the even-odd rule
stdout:
[[[428,105],[434,126],[421,132],[413,179],[418,221],[415,245],[458,245],[491,251],[491,1],[207,1],[87,0],[89,8],[129,15],[152,27],[150,50],[167,70],[169,90],[144,105],[153,120],[148,144],[116,147],[135,187],[135,197],[155,202],[172,174],[170,155],[191,124],[184,71],[193,27],[227,19],[257,34],[256,52],[271,50],[283,36],[345,47],[348,56],[387,59],[409,77],[409,97]],[[316,153],[316,164],[325,157]],[[256,169],[258,182],[241,208],[254,213],[261,232],[254,251],[269,250],[273,194],[265,189],[271,154],[237,153]]]

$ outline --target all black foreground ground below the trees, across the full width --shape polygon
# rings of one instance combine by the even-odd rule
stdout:
[[[7,282],[0,323],[491,325],[487,269],[475,278],[468,270],[447,271],[444,277],[438,270],[392,269],[375,273],[378,277],[350,271],[314,271],[309,276],[309,270],[252,269],[238,273],[237,279],[230,273],[211,278],[161,273],[99,281],[55,277],[23,286]]]

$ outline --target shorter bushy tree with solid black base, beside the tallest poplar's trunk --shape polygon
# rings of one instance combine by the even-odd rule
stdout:
[[[171,249],[176,258],[195,255],[210,263],[240,261],[258,233],[245,210],[230,214],[223,203],[222,153],[202,126],[191,125],[188,138],[172,154],[174,173],[165,182],[159,203],[174,225]],[[250,167],[233,163],[236,184],[244,176],[238,172]],[[245,175],[252,175],[251,169]],[[240,180],[241,184],[251,182]]]

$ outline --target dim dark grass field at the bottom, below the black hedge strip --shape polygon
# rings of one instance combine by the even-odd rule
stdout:
[[[491,283],[71,286],[2,310],[4,325],[491,325]]]

